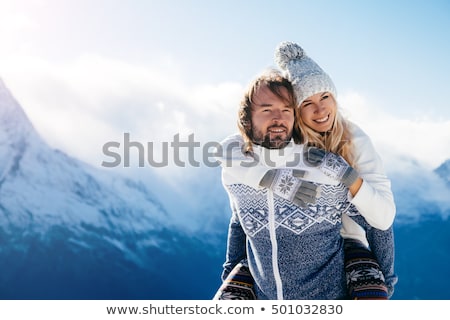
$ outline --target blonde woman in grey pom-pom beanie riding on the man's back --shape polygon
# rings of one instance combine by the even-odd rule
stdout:
[[[342,156],[358,173],[354,183],[348,186],[349,201],[364,219],[358,215],[353,218],[366,230],[391,297],[397,282],[392,230],[396,208],[382,161],[370,138],[342,117],[330,77],[298,44],[281,43],[276,48],[275,59],[294,87],[299,108],[296,125],[302,133],[302,143]],[[342,234],[344,238],[348,236],[345,228]],[[348,252],[349,258],[353,253]],[[347,261],[347,265],[351,269],[352,261]],[[358,270],[358,266],[353,267]],[[355,286],[364,285],[364,279],[359,284],[355,282]]]

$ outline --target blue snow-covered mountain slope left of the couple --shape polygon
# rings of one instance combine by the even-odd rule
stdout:
[[[187,283],[214,252],[144,184],[49,147],[0,80],[0,299],[207,297]]]

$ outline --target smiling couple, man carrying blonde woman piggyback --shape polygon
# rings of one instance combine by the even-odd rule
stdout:
[[[281,71],[250,84],[240,134],[222,142],[232,216],[214,299],[388,299],[395,203],[381,159],[299,45],[275,57]]]

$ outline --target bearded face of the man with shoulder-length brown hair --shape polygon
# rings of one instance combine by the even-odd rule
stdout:
[[[281,88],[288,100],[288,91]],[[286,105],[266,86],[262,86],[253,96],[252,131],[253,142],[269,149],[284,148],[292,138],[294,108]]]

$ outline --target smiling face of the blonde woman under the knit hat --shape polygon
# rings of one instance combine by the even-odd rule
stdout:
[[[300,105],[303,123],[317,132],[327,132],[333,127],[336,117],[336,101],[329,92],[317,93]]]

